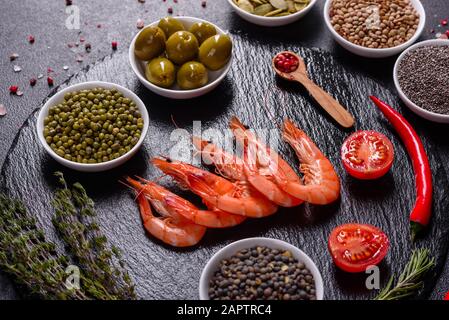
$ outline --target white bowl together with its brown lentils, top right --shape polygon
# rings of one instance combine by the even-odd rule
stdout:
[[[401,53],[419,38],[426,14],[419,0],[327,0],[324,19],[346,50],[385,58]]]

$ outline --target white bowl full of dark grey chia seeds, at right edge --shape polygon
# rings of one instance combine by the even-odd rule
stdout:
[[[449,41],[427,40],[404,51],[393,79],[399,97],[417,115],[449,123]]]

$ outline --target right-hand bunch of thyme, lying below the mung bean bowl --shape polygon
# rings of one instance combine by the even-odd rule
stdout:
[[[95,292],[105,299],[134,299],[132,281],[117,248],[107,246],[106,237],[95,220],[94,202],[81,184],[70,190],[62,173],[57,172],[61,189],[55,193],[53,225],[73,253],[86,278],[95,279]]]

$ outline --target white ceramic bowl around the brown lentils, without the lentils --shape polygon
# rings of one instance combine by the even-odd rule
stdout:
[[[354,44],[345,38],[343,38],[337,31],[335,31],[334,27],[331,24],[329,17],[329,8],[333,0],[326,0],[324,5],[324,21],[326,23],[327,28],[332,34],[332,37],[346,50],[367,58],[386,58],[390,56],[397,55],[412,45],[421,35],[424,30],[424,26],[426,24],[426,13],[424,11],[424,7],[422,6],[419,0],[410,0],[413,7],[419,14],[419,24],[418,29],[416,29],[415,34],[408,41],[392,48],[383,48],[383,49],[375,49],[375,48],[366,48],[363,46],[359,46]]]

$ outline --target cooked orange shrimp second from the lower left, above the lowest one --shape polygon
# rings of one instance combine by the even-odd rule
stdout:
[[[151,204],[165,215],[171,215],[178,220],[180,217],[188,219],[198,225],[208,228],[228,228],[242,223],[246,218],[243,216],[224,212],[210,206],[209,210],[200,210],[194,204],[184,198],[172,193],[164,187],[141,179],[143,183],[130,177],[126,181],[136,190],[142,192]]]

